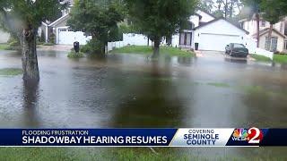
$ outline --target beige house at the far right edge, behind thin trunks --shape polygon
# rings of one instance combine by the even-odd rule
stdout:
[[[268,33],[270,23],[261,19],[259,21],[259,48],[271,50],[272,52],[286,52],[287,51],[287,19],[277,22],[273,25],[271,41],[269,41]],[[243,19],[239,21],[241,27],[250,32],[252,38],[257,38],[257,21],[252,19]]]

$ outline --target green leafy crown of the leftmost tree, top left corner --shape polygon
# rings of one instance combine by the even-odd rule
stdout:
[[[10,32],[24,28],[37,29],[41,21],[52,20],[65,7],[58,0],[3,0],[0,5],[1,27]],[[7,12],[9,9],[9,12]]]

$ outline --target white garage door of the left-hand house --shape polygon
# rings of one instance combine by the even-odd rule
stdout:
[[[82,31],[69,31],[67,29],[58,30],[57,44],[73,45],[74,41],[80,42],[80,45],[85,45],[91,37],[84,36]]]

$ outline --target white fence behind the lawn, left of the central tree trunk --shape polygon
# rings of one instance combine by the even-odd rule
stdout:
[[[127,33],[123,34],[123,41],[109,42],[108,52],[114,48],[126,46],[147,46],[148,38],[142,34]],[[152,46],[152,41],[149,40],[149,45]]]

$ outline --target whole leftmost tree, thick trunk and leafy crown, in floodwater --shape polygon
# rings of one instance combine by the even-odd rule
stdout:
[[[36,36],[41,21],[55,17],[58,0],[1,0],[2,27],[18,37],[22,45],[23,80],[39,81]]]

